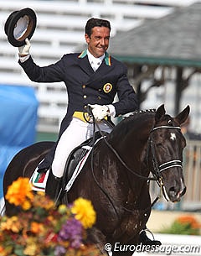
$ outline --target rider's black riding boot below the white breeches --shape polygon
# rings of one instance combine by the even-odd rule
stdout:
[[[49,177],[48,177],[46,188],[45,188],[45,193],[52,200],[55,201],[56,205],[58,205],[60,192],[61,192],[61,178],[54,176],[52,173],[52,170],[50,169]]]

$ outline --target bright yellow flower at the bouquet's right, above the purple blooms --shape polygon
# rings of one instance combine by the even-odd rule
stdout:
[[[75,218],[79,220],[83,227],[92,227],[95,223],[96,214],[91,201],[84,198],[78,198],[74,201],[71,212],[75,214]]]

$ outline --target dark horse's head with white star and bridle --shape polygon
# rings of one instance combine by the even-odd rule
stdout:
[[[175,118],[165,114],[164,105],[157,108],[155,123],[149,138],[149,160],[152,173],[162,186],[167,200],[180,201],[186,192],[183,179],[183,149],[186,140],[180,125],[189,114],[189,106]]]

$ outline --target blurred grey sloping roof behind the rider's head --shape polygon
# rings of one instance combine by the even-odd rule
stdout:
[[[110,52],[135,64],[201,66],[201,3],[175,8],[174,12],[118,33]]]

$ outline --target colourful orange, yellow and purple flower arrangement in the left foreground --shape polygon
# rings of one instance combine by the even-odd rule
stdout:
[[[70,206],[54,207],[41,192],[33,195],[28,178],[8,187],[6,199],[18,215],[0,217],[0,256],[100,256],[87,244],[87,230],[95,223],[91,202],[78,198]]]

